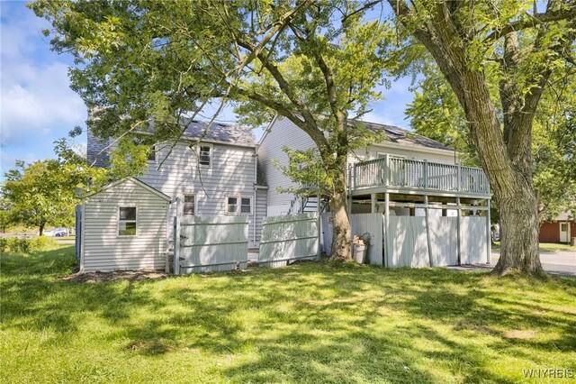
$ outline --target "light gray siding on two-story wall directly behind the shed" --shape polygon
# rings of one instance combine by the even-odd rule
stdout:
[[[172,197],[195,195],[195,215],[227,215],[227,197],[250,197],[254,201],[254,148],[211,144],[211,166],[199,165],[195,150],[188,142],[158,146],[157,161],[150,161],[148,171],[139,179]],[[169,152],[169,154],[168,154]],[[167,155],[167,158],[166,158]],[[166,158],[166,159],[165,159]],[[159,166],[159,169],[158,169]],[[172,239],[172,224],[176,205],[170,207],[166,222],[168,238]],[[252,239],[253,215],[249,215],[249,239]]]

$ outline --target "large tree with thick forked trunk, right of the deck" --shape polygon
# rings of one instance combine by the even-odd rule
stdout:
[[[388,3],[399,40],[406,38],[404,47],[419,42],[428,50],[463,108],[466,131],[500,207],[502,243],[495,272],[543,274],[533,181],[534,117],[551,79],[573,70],[576,4]]]

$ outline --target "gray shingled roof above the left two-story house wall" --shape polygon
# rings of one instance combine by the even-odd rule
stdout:
[[[256,147],[256,138],[251,128],[238,124],[212,123],[206,129],[207,122],[186,120],[184,137],[201,139],[205,142],[224,142],[248,147]]]

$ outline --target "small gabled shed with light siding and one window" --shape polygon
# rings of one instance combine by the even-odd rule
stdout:
[[[80,271],[163,270],[170,197],[124,178],[82,206]]]

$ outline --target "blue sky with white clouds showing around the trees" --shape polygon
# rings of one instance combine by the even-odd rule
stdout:
[[[85,105],[69,88],[69,55],[49,49],[41,34],[49,24],[21,1],[0,1],[0,164],[2,176],[14,160],[31,162],[53,157],[53,142],[76,125],[85,127]],[[410,79],[392,82],[386,99],[373,105],[365,120],[408,127],[404,110],[412,94]],[[222,122],[235,120],[226,110]],[[85,135],[78,138],[85,143]],[[0,176],[0,178],[2,178]]]

